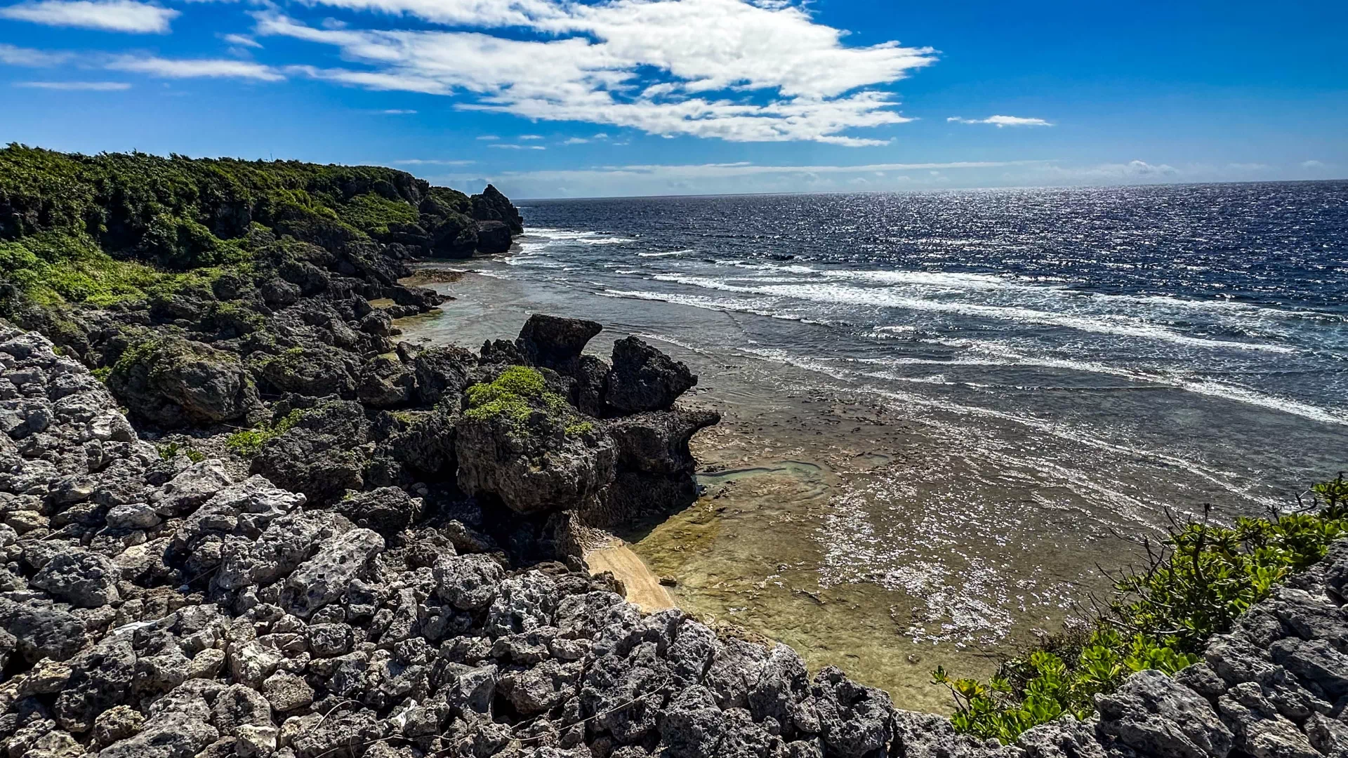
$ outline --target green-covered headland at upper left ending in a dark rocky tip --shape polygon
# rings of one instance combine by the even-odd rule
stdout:
[[[495,189],[469,198],[377,166],[9,144],[0,150],[0,316],[61,332],[67,305],[162,299],[209,290],[224,272],[248,275],[263,260],[305,259],[287,237],[377,274],[371,251],[380,244],[470,255],[481,220],[520,228]]]

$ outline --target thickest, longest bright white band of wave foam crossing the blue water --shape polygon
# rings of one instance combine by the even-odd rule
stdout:
[[[1181,345],[1267,351],[1279,353],[1294,353],[1295,348],[1287,345],[1271,345],[1264,343],[1236,343],[1231,340],[1209,340],[1182,334],[1167,326],[1150,324],[1140,318],[1122,314],[1074,316],[1069,313],[1053,313],[1024,306],[983,305],[954,301],[934,301],[911,297],[882,287],[851,287],[829,282],[799,283],[799,285],[733,285],[720,279],[706,276],[687,276],[678,274],[656,274],[652,276],[661,282],[671,282],[709,290],[721,290],[737,294],[756,294],[805,299],[814,302],[863,305],[880,308],[902,308],[907,310],[952,313],[957,316],[972,316],[979,318],[993,318],[999,321],[1015,321],[1020,324],[1038,324],[1043,326],[1060,326],[1080,332],[1097,334],[1116,334],[1140,340],[1159,340]]]

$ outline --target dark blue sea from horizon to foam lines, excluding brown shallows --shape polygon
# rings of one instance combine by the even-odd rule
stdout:
[[[1348,422],[1348,182],[523,210],[516,267],[825,324],[878,366],[1058,367]]]

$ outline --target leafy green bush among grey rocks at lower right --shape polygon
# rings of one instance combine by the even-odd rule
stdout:
[[[950,689],[956,731],[1015,740],[1024,730],[1064,713],[1086,718],[1095,696],[1143,669],[1175,673],[1198,661],[1204,643],[1231,631],[1273,585],[1325,556],[1348,533],[1348,482],[1343,473],[1312,487],[1313,513],[1237,518],[1233,527],[1178,525],[1147,564],[1115,581],[1113,597],[1088,629],[1045,641],[1007,661],[987,682],[933,681]]]

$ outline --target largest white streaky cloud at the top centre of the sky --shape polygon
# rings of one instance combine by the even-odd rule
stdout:
[[[311,1],[457,27],[523,27],[539,39],[325,30],[275,11],[257,13],[257,34],[336,46],[344,59],[365,66],[298,73],[369,89],[457,94],[465,109],[663,136],[887,144],[845,132],[911,120],[895,111],[892,93],[876,88],[936,61],[930,49],[894,42],[844,46],[842,31],[786,3]]]

